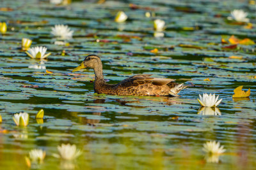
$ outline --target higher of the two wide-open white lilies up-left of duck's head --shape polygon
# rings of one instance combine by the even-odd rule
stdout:
[[[68,28],[68,25],[54,25],[54,27],[51,28],[52,35],[61,38],[61,39],[71,39],[73,32]]]

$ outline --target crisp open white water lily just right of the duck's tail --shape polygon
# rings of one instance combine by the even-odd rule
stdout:
[[[222,99],[218,101],[219,96],[215,97],[215,94],[204,94],[203,97],[199,94],[200,99],[198,102],[204,107],[217,107]]]

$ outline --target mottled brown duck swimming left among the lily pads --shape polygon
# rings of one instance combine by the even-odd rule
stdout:
[[[90,67],[94,69],[94,91],[97,94],[133,95],[133,96],[179,96],[183,84],[170,78],[152,78],[151,74],[138,74],[126,78],[115,85],[106,83],[102,73],[102,62],[97,55],[88,55],[73,71]]]

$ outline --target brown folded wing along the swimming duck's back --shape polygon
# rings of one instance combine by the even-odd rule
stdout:
[[[121,81],[116,86],[132,87],[132,86],[138,86],[138,85],[145,85],[147,83],[152,83],[153,85],[157,85],[157,86],[163,86],[172,81],[175,81],[174,79],[170,79],[170,78],[152,78],[150,76],[152,76],[152,74],[138,74],[135,76],[131,76]]]

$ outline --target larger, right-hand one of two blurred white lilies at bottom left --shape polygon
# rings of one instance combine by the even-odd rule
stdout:
[[[70,145],[69,143],[58,146],[58,151],[59,154],[54,153],[52,156],[65,160],[74,160],[82,154],[81,150],[76,148],[76,145]]]

